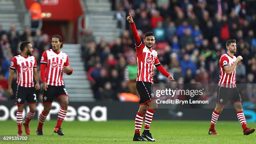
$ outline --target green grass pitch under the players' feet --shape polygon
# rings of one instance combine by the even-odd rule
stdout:
[[[152,121],[151,133],[155,144],[256,144],[256,133],[244,136],[238,121],[218,121],[218,136],[208,135],[210,121]],[[4,144],[131,144],[152,143],[132,141],[134,121],[66,122],[62,124],[65,136],[53,132],[56,121],[46,121],[44,135],[37,136],[37,121],[31,121],[29,141],[0,141]],[[248,123],[256,127],[256,123]],[[143,129],[142,129],[143,131]],[[15,121],[0,121],[0,135],[16,135]],[[23,135],[26,135],[23,128]]]

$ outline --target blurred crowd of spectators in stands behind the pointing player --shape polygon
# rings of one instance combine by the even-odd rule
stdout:
[[[237,40],[236,83],[247,83],[244,100],[256,101],[256,1],[254,0],[111,0],[112,10],[131,13],[143,38],[153,31],[159,61],[174,83],[218,83],[225,42]],[[124,18],[125,19],[125,18]],[[82,35],[82,55],[95,99],[136,94],[136,49],[130,30],[114,42],[99,43],[90,29]],[[158,71],[154,83],[168,83]],[[173,83],[173,82],[172,82]],[[217,86],[217,85],[216,85]]]

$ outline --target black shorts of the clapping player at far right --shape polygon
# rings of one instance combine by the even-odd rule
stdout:
[[[238,88],[226,88],[218,86],[217,91],[217,103],[220,105],[225,105],[230,101],[230,103],[241,102],[241,95]]]

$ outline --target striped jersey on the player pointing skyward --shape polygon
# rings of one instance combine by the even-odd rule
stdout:
[[[136,45],[138,75],[136,81],[154,83],[154,65],[160,65],[158,54],[155,50],[150,51],[142,42]]]

